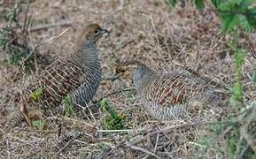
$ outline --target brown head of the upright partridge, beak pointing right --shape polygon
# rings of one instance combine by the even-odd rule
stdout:
[[[109,34],[106,29],[99,27],[97,24],[90,24],[85,30],[85,39],[89,42],[97,42],[103,34]]]

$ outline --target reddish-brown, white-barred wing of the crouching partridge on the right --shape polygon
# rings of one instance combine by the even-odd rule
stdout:
[[[200,83],[201,82],[201,83]],[[147,99],[161,107],[187,103],[191,97],[199,97],[206,90],[202,81],[182,73],[165,74],[152,81]]]

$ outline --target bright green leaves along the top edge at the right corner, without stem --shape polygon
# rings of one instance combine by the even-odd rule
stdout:
[[[176,0],[169,2],[173,7],[177,4]],[[221,17],[224,34],[239,26],[247,31],[256,28],[255,0],[212,0],[212,3]],[[205,8],[205,0],[194,0],[194,4],[199,10]]]

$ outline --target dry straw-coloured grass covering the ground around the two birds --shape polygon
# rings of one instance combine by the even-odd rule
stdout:
[[[162,72],[183,71],[176,62],[205,74],[221,79],[231,85],[235,81],[234,58],[228,46],[229,36],[220,34],[220,19],[213,11],[199,12],[188,3],[171,9],[165,0],[104,0],[104,1],[35,1],[33,26],[30,40],[44,57],[62,57],[79,40],[81,29],[89,22],[97,22],[112,30],[112,34],[98,42],[105,80],[102,81],[95,101],[107,95],[108,102],[120,115],[127,116],[126,130],[103,130],[105,113],[85,119],[82,113],[75,117],[50,115],[46,117],[47,129],[29,130],[26,125],[3,133],[0,156],[20,158],[191,158],[197,157],[198,140],[206,135],[205,118],[220,118],[227,114],[226,108],[212,108],[202,112],[201,117],[186,121],[159,123],[142,109],[141,102],[130,91],[120,89],[132,86],[130,79],[107,80],[114,76],[118,61],[136,57]],[[62,25],[64,21],[65,25]],[[46,24],[55,24],[49,27]],[[46,27],[45,27],[46,25]],[[37,28],[35,27],[35,28]],[[57,40],[45,42],[69,31]],[[250,37],[255,46],[255,36]],[[253,39],[254,38],[254,39]],[[44,43],[41,43],[44,42]],[[244,48],[250,48],[241,39]],[[255,51],[255,50],[254,50]],[[243,84],[247,102],[255,99],[256,88],[249,79],[255,69],[255,59],[248,55],[244,64]],[[254,67],[253,67],[254,65]],[[45,65],[40,65],[42,70]],[[6,114],[13,110],[15,92],[26,85],[35,72],[24,74],[22,69],[0,64],[0,110],[4,122]],[[129,74],[128,74],[129,77]],[[254,92],[254,93],[253,93]],[[93,103],[90,103],[92,105]],[[58,138],[58,121],[62,121],[62,133]],[[211,156],[210,156],[211,155]],[[218,157],[207,154],[205,157]]]

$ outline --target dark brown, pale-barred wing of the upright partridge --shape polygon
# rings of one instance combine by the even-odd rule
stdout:
[[[68,93],[81,85],[79,80],[81,75],[81,70],[75,64],[58,59],[41,72],[34,85],[28,88],[27,100],[30,102],[40,101],[46,108],[57,106]],[[40,100],[35,100],[31,94],[39,89],[42,89]]]

